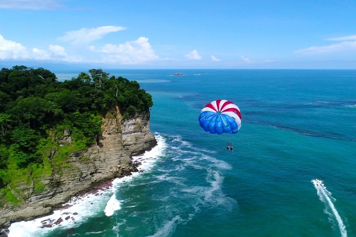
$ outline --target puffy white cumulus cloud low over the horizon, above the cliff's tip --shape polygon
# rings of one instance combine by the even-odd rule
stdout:
[[[118,45],[108,43],[99,50],[96,50],[94,46],[90,46],[89,49],[103,53],[102,62],[104,63],[139,64],[159,59],[148,42],[148,38],[145,37]]]

